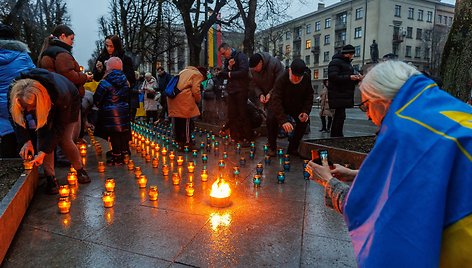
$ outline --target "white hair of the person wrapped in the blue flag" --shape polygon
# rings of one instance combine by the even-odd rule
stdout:
[[[421,74],[414,67],[396,60],[375,65],[364,77],[361,92],[369,99],[392,100],[413,75]]]

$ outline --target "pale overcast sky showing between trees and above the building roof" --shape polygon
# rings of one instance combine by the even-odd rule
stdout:
[[[87,61],[91,57],[98,39],[97,19],[108,13],[108,0],[66,0],[69,14],[74,30],[75,43],[73,54],[80,65],[87,66]],[[289,15],[293,18],[305,15],[316,10],[317,0],[303,0],[306,4],[293,1],[289,10]],[[325,5],[329,6],[339,0],[325,0]],[[454,4],[455,0],[442,0],[442,2]]]

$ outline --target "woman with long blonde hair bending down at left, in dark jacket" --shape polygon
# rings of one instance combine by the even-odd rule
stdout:
[[[77,87],[62,75],[44,69],[31,69],[20,75],[9,91],[10,114],[19,144],[20,156],[27,159],[34,154],[25,116],[36,120],[38,154],[33,162],[43,164],[46,175],[46,193],[57,194],[54,171],[54,149],[60,145],[72,166],[77,170],[79,183],[91,180],[85,171],[73,131],[79,121],[80,95]]]

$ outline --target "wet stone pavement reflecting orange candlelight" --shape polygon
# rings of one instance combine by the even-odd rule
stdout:
[[[317,110],[312,112],[309,138],[318,132]],[[368,135],[375,127],[348,111],[345,136]],[[359,118],[358,118],[359,117]],[[199,144],[197,138],[197,144]],[[324,205],[323,189],[303,178],[303,161],[291,157],[291,169],[284,184],[277,183],[280,158],[264,164],[260,187],[253,184],[256,163],[264,163],[265,137],[256,141],[256,157],[249,150],[237,154],[234,145],[226,150],[225,178],[232,188],[232,205],[214,208],[209,191],[220,173],[222,156],[208,153],[209,180],[202,182],[200,153],[193,181],[195,194],[187,197],[189,180],[186,162],[179,186],[162,175],[162,163],[152,168],[133,151],[132,159],[143,169],[149,185],[159,188],[158,201],[149,201],[146,190],[137,186],[126,166],[106,167],[97,172],[97,156],[88,148],[86,167],[92,183],[79,185],[69,214],[57,211],[58,196],[44,195],[40,187],[23,219],[3,267],[355,267],[354,253],[342,216]],[[280,144],[285,144],[280,140]],[[102,141],[103,148],[107,148]],[[223,144],[220,145],[220,148]],[[104,150],[106,151],[106,150]],[[247,163],[234,178],[232,167],[239,157]],[[162,161],[162,157],[160,158]],[[169,161],[169,160],[167,160]],[[176,165],[174,166],[176,170]],[[66,184],[65,168],[57,177]],[[172,172],[170,173],[172,174]],[[101,200],[104,181],[114,177],[116,203],[104,208]]]

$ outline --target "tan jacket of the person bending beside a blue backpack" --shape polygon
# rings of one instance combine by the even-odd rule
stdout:
[[[173,99],[167,98],[169,117],[192,118],[200,115],[197,103],[201,100],[200,84],[203,75],[193,66],[179,73],[177,88],[181,92]]]

